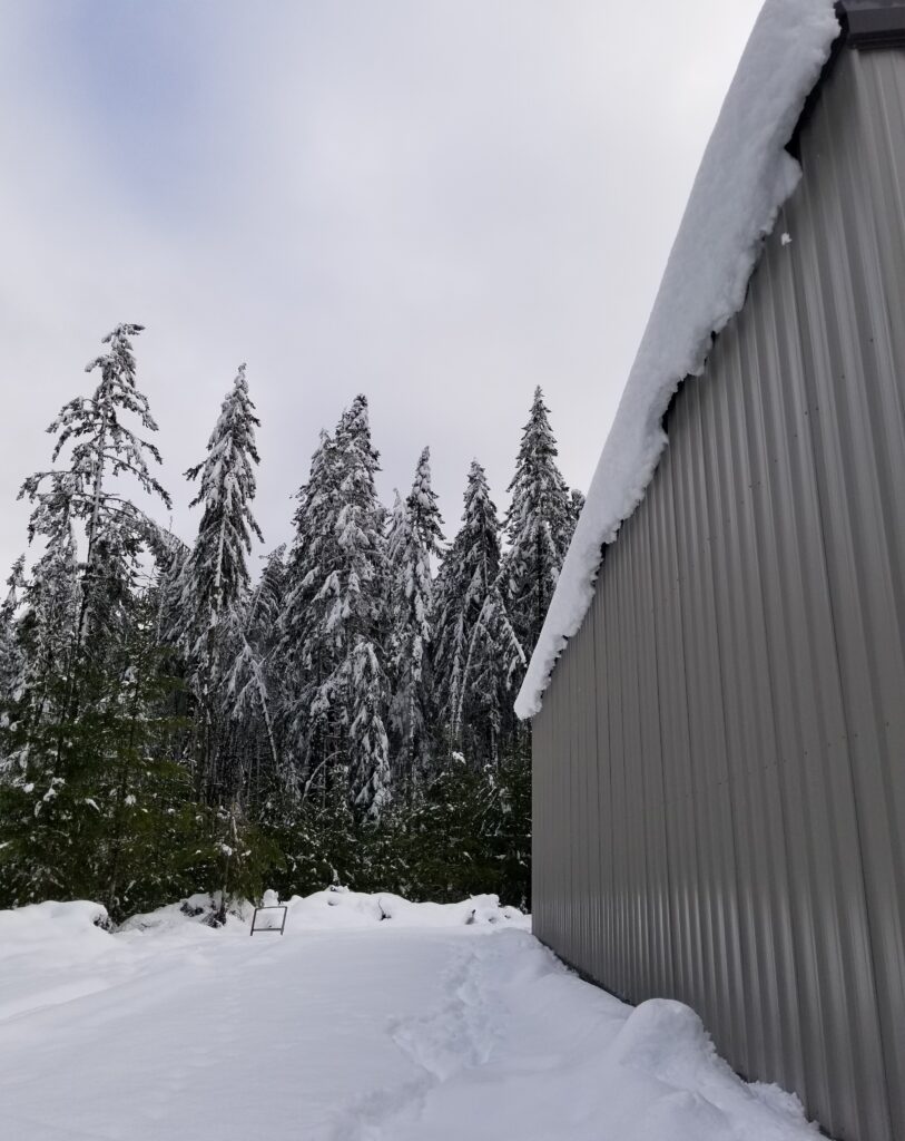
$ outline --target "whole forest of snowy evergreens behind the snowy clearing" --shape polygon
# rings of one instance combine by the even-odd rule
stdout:
[[[0,605],[0,907],[90,898],[122,919],[196,891],[226,906],[331,882],[527,906],[530,730],[512,703],[582,503],[540,389],[505,518],[475,461],[449,541],[429,448],[408,493],[380,502],[357,396],[320,434],[292,543],[252,574],[245,366],[186,472],[186,543],[147,505],[171,501],[140,332],[105,338],[93,391],[62,408],[51,467],[19,493],[30,557]]]

